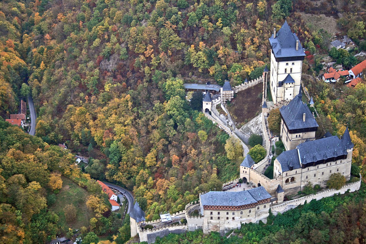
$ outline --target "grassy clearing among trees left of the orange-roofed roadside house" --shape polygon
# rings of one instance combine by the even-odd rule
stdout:
[[[68,228],[80,229],[82,226],[89,226],[89,219],[94,217],[94,212],[86,207],[86,199],[90,195],[86,189],[79,187],[76,183],[66,177],[62,177],[62,189],[56,194],[56,202],[50,209],[59,216],[59,224],[64,230]],[[64,214],[64,207],[73,204],[76,207],[76,219],[67,223]]]

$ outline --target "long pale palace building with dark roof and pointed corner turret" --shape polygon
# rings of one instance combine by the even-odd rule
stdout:
[[[353,147],[348,128],[341,139],[328,136],[301,143],[276,158],[273,178],[287,194],[301,191],[309,183],[324,187],[333,173],[349,180]]]

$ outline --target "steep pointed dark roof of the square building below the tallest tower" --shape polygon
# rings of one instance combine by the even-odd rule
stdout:
[[[288,129],[303,129],[319,126],[310,109],[302,103],[301,89],[299,94],[287,106],[280,108],[280,113]],[[303,121],[303,113],[305,113],[305,122]]]

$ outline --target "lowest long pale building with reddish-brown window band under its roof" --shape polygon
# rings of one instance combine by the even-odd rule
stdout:
[[[226,233],[242,223],[257,222],[268,214],[272,196],[264,187],[247,191],[210,191],[199,195],[203,233]]]

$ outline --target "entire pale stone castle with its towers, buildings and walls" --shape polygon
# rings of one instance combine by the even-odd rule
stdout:
[[[274,29],[269,42],[271,65],[269,70],[267,66],[265,67],[261,77],[264,95],[262,120],[265,120],[264,116],[269,112],[266,104],[267,87],[275,105],[287,104],[280,108],[280,138],[286,151],[274,161],[273,179],[269,179],[261,173],[262,170],[259,170],[268,162],[267,158],[262,160],[263,162],[255,163],[251,156],[247,155],[239,166],[239,179],[243,180],[243,184],[253,183],[255,188],[237,192],[201,193],[199,201],[188,203],[183,211],[173,214],[184,216],[186,224],[164,225],[158,228],[155,226],[150,230],[144,229],[143,225],[160,224],[160,221],[145,223],[145,213],[135,203],[130,213],[131,236],[139,234],[140,241],[153,243],[157,236],[163,237],[169,233],[183,233],[195,229],[202,229],[203,233],[217,231],[224,234],[231,229],[240,228],[244,223],[266,222],[269,210],[273,214],[283,213],[312,199],[319,200],[360,188],[361,180],[348,183],[341,189],[325,189],[316,194],[284,201],[286,195],[297,194],[308,184],[325,187],[333,173],[340,173],[349,180],[354,144],[351,142],[348,128],[341,138],[328,132],[323,138],[315,140],[318,124],[314,114],[303,102],[302,96],[301,72],[305,53],[299,39],[285,22],[278,33]],[[246,81],[241,87],[248,85]],[[233,97],[234,90],[231,89],[229,82],[225,82],[221,87],[221,102],[231,100]],[[211,111],[212,106],[212,97],[206,92],[203,98],[203,112]],[[313,106],[311,98],[310,107]],[[267,132],[265,123],[262,123],[262,127]],[[266,144],[266,147],[270,146]],[[193,210],[199,210],[199,216],[191,215]]]

